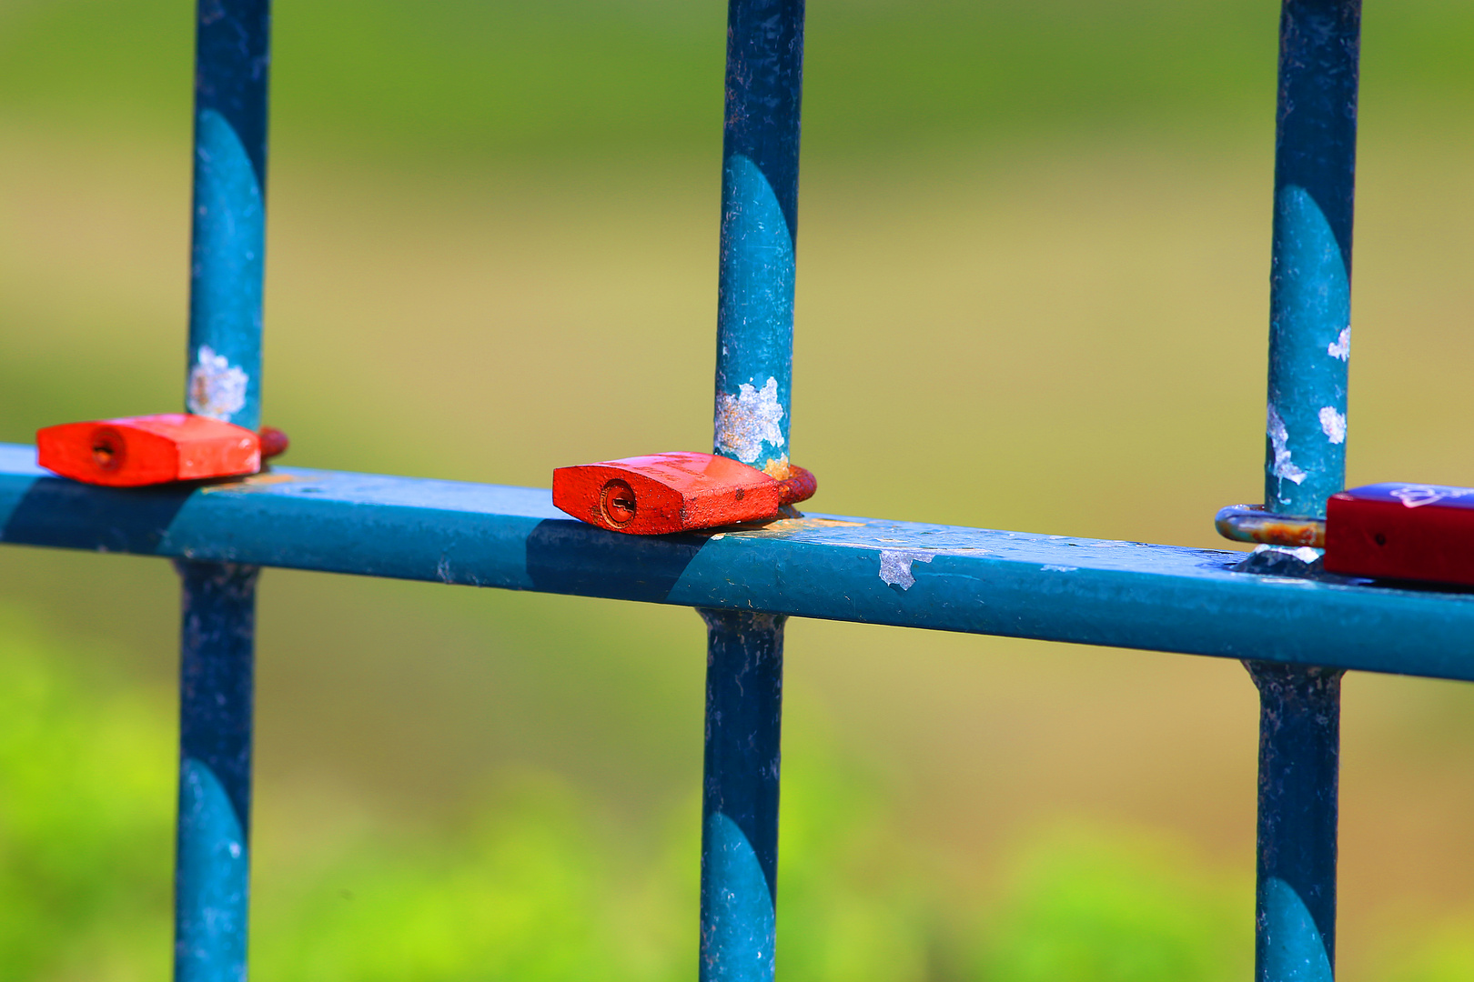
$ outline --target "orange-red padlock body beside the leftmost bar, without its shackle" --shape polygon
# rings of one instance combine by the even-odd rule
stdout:
[[[109,487],[236,477],[261,470],[261,439],[220,420],[167,412],[65,423],[35,433],[37,462]]]

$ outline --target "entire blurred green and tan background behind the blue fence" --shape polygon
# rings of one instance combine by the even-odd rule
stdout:
[[[545,484],[710,433],[724,4],[280,0],[267,421]],[[1218,545],[1257,501],[1272,0],[814,0],[815,508]],[[187,0],[0,0],[0,440],[180,403]],[[1371,4],[1350,480],[1474,483],[1474,6]],[[0,975],[170,957],[177,584],[0,551]],[[684,979],[690,611],[270,571],[261,979]],[[1247,978],[1237,664],[793,621],[784,979]],[[1474,976],[1474,690],[1353,676],[1349,982]]]

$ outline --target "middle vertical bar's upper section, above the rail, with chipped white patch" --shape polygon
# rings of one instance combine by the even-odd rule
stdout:
[[[787,477],[803,0],[731,0],[715,452]]]

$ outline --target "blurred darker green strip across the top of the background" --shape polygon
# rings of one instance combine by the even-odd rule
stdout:
[[[189,127],[189,0],[7,0],[6,113]],[[1220,128],[1274,91],[1274,0],[831,0],[805,144],[896,153],[1045,130]],[[419,163],[709,153],[722,3],[311,0],[274,13],[273,140]],[[1366,13],[1365,97],[1468,112],[1474,10]]]

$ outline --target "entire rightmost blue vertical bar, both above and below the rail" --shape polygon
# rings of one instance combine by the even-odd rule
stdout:
[[[1325,515],[1346,481],[1361,0],[1284,0],[1265,502]],[[1335,966],[1341,673],[1246,663],[1259,686],[1254,976]]]

